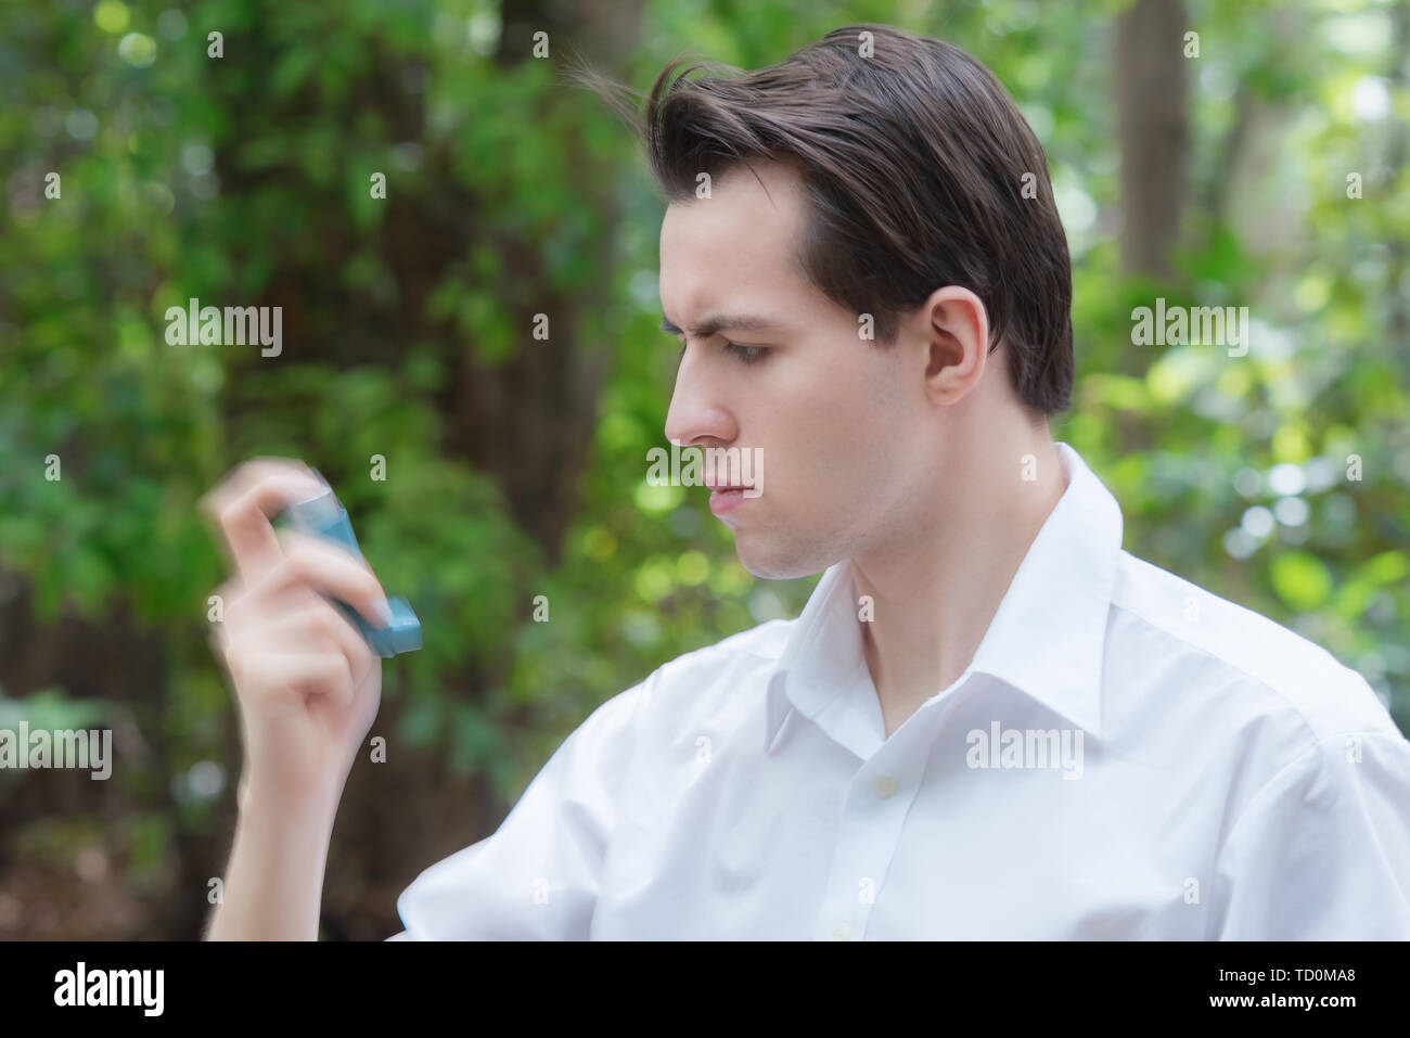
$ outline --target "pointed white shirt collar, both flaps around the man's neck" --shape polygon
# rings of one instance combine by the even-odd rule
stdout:
[[[971,671],[995,677],[1100,738],[1121,506],[1073,447],[1056,447],[1067,488],[1019,563],[963,678]],[[812,718],[857,683],[876,695],[860,623],[845,558],[823,573],[784,643],[768,683],[766,752],[790,708]]]

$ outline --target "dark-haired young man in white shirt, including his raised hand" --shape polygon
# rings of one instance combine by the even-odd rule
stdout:
[[[675,72],[644,120],[666,436],[760,451],[763,492],[712,509],[750,573],[825,573],[798,619],[594,711],[402,894],[396,936],[1410,938],[1410,742],[1318,646],[1122,551],[1050,437],[1066,238],[998,82],[878,25]],[[379,598],[333,551],[281,554],[264,515],[302,478],[261,463],[216,502],[264,591],[227,611],[251,777],[212,936],[316,934],[376,708],[326,606],[321,667],[274,647],[314,590]]]

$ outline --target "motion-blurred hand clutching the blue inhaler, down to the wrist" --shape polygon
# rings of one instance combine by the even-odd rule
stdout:
[[[382,660],[338,609],[374,626],[386,595],[365,563],[334,543],[275,530],[271,516],[324,489],[300,461],[258,458],[202,499],[235,573],[217,594],[212,645],[234,690],[245,760],[240,804],[321,804],[329,824],[376,716]]]

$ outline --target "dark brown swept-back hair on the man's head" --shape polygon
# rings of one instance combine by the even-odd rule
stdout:
[[[1067,238],[1042,145],[987,68],[870,24],[754,72],[685,65],[670,62],[644,97],[572,73],[644,140],[667,202],[692,199],[702,172],[790,164],[812,210],[799,265],[828,298],[873,315],[878,340],[894,343],[901,313],[943,285],[969,288],[988,310],[990,351],[1007,334],[1024,403],[1045,416],[1072,406]],[[702,68],[725,75],[689,79]]]

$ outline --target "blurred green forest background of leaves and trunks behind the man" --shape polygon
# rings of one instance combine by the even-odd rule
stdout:
[[[797,613],[815,578],[754,580],[702,492],[646,484],[663,203],[561,73],[644,90],[677,54],[756,68],[857,21],[967,49],[1046,147],[1079,371],[1053,434],[1125,547],[1325,646],[1410,728],[1406,0],[13,0],[0,728],[111,728],[114,763],[0,771],[0,938],[200,934],[240,746],[196,501],[241,460],[317,467],[424,630],[384,666],[386,763],[343,798],[330,939],[400,929],[400,890],[596,704]],[[283,307],[281,354],[169,344],[190,298]],[[1248,306],[1248,355],[1134,346],[1156,298]]]

